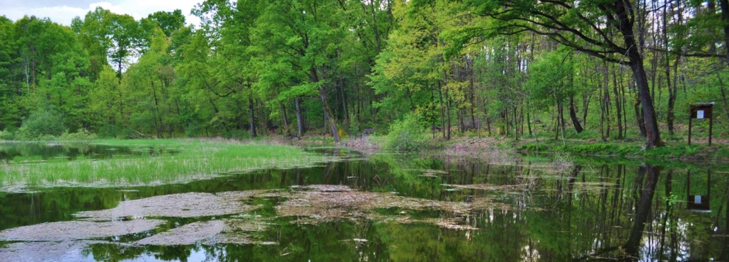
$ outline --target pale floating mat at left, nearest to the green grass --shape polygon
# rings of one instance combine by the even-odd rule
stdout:
[[[116,220],[124,217],[206,217],[239,214],[257,206],[249,206],[233,197],[211,193],[182,193],[122,201],[113,209],[78,212],[77,217],[90,220]]]

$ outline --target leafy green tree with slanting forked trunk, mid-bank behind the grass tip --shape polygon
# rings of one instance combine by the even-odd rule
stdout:
[[[282,78],[291,81],[292,96],[318,96],[335,142],[339,132],[328,93],[338,72],[337,51],[348,31],[337,19],[341,14],[334,1],[273,1],[256,20],[252,39],[254,52],[270,53],[262,61],[264,68],[291,68]]]

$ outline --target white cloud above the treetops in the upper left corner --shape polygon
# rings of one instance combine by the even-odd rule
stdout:
[[[3,12],[0,15],[5,15],[11,20],[18,20],[23,18],[24,15],[35,15],[39,18],[50,18],[55,23],[70,25],[74,17],[79,16],[84,18],[87,12],[96,7],[109,9],[117,14],[128,14],[137,20],[146,18],[147,15],[153,12],[172,12],[174,9],[181,9],[188,24],[199,25],[200,19],[190,15],[190,9],[195,7],[200,1],[203,0],[121,0],[115,4],[109,3],[108,1],[101,1],[89,4],[87,8],[68,7],[66,5],[33,8],[5,7],[0,8],[3,9],[3,11],[0,11]]]

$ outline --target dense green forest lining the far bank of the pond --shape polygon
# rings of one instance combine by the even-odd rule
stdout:
[[[714,136],[729,137],[728,63],[728,0],[207,0],[139,20],[98,7],[70,26],[0,17],[0,139],[338,142],[414,119],[441,139],[660,147],[685,139],[696,102],[715,102]]]

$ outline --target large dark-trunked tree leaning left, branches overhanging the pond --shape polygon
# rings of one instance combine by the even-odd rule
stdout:
[[[491,20],[486,25],[461,28],[461,34],[454,37],[454,48],[484,34],[532,32],[605,61],[630,66],[647,131],[645,145],[663,145],[644,69],[644,39],[636,30],[636,13],[647,10],[634,7],[629,0],[580,1],[579,4],[564,0],[469,0],[461,7],[472,8],[477,15]]]

